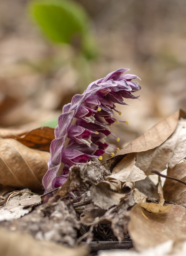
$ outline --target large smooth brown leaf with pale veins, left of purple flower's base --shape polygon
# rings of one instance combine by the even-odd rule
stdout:
[[[41,191],[49,157],[49,152],[30,149],[14,139],[0,138],[1,184]]]

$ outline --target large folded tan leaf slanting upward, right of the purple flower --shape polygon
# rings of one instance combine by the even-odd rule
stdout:
[[[186,119],[183,117],[186,117],[183,111],[180,111],[180,116],[179,112],[176,112],[134,140],[130,147],[126,146],[118,151],[116,159],[121,159],[119,155],[127,155],[114,167],[111,177],[121,181],[139,181],[144,179],[145,175],[151,175],[153,169],[162,172],[168,166],[173,168],[178,164],[186,157]],[[143,148],[138,146],[140,142],[144,145]]]

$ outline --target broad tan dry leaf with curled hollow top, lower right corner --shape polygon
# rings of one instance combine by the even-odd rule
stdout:
[[[131,210],[128,232],[138,251],[155,247],[169,239],[186,239],[185,229],[186,208],[183,206],[141,203]]]

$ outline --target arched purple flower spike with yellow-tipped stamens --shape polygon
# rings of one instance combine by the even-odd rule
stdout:
[[[119,150],[107,144],[105,139],[112,135],[117,141],[120,140],[110,131],[112,123],[121,121],[128,124],[128,121],[114,118],[114,111],[121,115],[115,103],[127,105],[123,98],[139,97],[132,95],[141,89],[137,82],[132,81],[139,77],[123,75],[128,70],[121,68],[92,82],[83,94],[76,94],[72,102],[63,107],[55,128],[55,139],[50,146],[49,169],[43,177],[45,192],[64,184],[72,165],[89,160],[99,161],[103,153],[113,156],[114,152],[108,153],[107,147]]]

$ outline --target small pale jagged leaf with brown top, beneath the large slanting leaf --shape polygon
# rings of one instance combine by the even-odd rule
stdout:
[[[114,167],[109,177],[121,182],[135,182],[145,179],[147,176],[136,167],[135,162],[135,154],[128,154]]]

